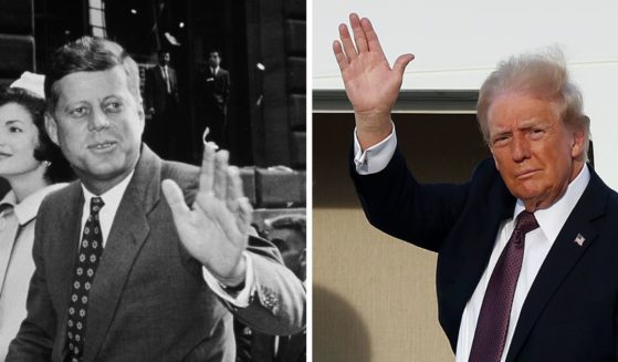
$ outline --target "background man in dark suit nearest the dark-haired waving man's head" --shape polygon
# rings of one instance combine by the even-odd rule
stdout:
[[[144,141],[164,158],[170,158],[170,147],[182,127],[178,115],[179,96],[176,71],[169,65],[171,60],[167,50],[158,52],[158,64],[146,70],[145,104],[150,114]]]

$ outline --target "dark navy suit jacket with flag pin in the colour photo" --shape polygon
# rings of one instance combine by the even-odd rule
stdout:
[[[618,194],[590,173],[530,289],[506,361],[617,359]],[[353,169],[352,177],[374,226],[438,252],[439,320],[454,351],[465,303],[515,206],[493,159],[464,185],[417,183],[399,151],[383,172]],[[578,235],[583,246],[574,242]]]

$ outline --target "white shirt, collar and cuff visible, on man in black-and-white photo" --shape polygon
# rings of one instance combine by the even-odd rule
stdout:
[[[125,194],[125,190],[130,182],[133,177],[133,172],[125,177],[121,183],[118,183],[118,185],[112,187],[111,189],[108,189],[107,192],[105,192],[102,195],[98,195],[98,197],[101,197],[103,199],[104,206],[101,208],[101,210],[98,211],[98,221],[101,224],[101,234],[103,237],[103,247],[105,247],[105,244],[107,242],[107,236],[109,236],[109,230],[112,229],[112,224],[114,221],[114,217],[116,216],[116,211],[118,210],[118,207],[121,205],[121,201],[123,199],[123,195]],[[86,220],[88,219],[90,216],[90,205],[91,205],[91,199],[93,197],[96,197],[97,195],[94,195],[93,193],[91,193],[83,184],[82,184],[82,190],[84,193],[84,207],[83,207],[83,211],[82,211],[82,229],[80,230],[80,235],[82,235],[83,230],[84,230],[84,226],[86,225]],[[78,242],[78,240],[77,240]],[[105,255],[105,251],[103,251],[103,254]],[[206,283],[208,285],[208,287],[210,287],[210,289],[212,291],[214,291],[214,293],[217,293],[217,296],[219,296],[220,298],[222,298],[223,300],[232,303],[233,306],[238,307],[238,308],[244,308],[249,306],[249,302],[251,300],[251,296],[254,292],[254,278],[253,278],[253,260],[251,258],[251,255],[247,251],[243,251],[243,256],[244,259],[247,261],[247,273],[244,276],[244,288],[238,293],[238,294],[230,294],[228,293],[221,286],[221,283],[217,280],[217,278],[214,278],[214,276],[212,276],[212,273],[206,268],[203,267],[203,279],[206,281]]]

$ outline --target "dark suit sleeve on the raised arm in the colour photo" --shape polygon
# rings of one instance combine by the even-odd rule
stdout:
[[[399,149],[379,173],[359,175],[349,167],[363,210],[384,232],[438,251],[465,205],[469,185],[419,184]]]

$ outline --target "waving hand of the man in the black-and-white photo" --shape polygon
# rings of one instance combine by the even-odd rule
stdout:
[[[191,208],[180,187],[163,182],[174,224],[189,254],[222,283],[237,286],[244,280],[247,248],[251,228],[251,205],[242,194],[237,167],[228,165],[229,154],[206,144],[199,190]]]

